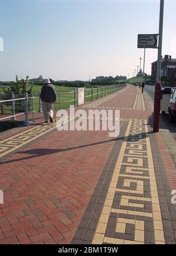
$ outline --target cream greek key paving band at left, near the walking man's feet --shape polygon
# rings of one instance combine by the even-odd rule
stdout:
[[[40,136],[51,132],[53,129],[56,129],[56,123],[43,124],[2,140],[0,143],[0,158],[22,146],[25,146],[25,144],[28,144],[33,140],[38,139]]]

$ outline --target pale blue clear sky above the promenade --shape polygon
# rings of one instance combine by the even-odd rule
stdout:
[[[0,80],[89,80],[133,76],[144,55],[137,35],[158,33],[160,0],[1,0],[0,10]],[[165,0],[163,55],[173,58],[175,14],[176,1]],[[146,73],[155,60],[147,49]]]

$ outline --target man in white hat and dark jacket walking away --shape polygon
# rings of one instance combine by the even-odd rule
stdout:
[[[56,91],[54,87],[50,84],[50,80],[45,80],[45,85],[43,85],[40,92],[40,99],[42,100],[42,109],[45,117],[45,123],[53,123],[53,111],[54,103],[56,101]]]

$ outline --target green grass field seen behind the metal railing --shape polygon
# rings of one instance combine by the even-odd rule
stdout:
[[[30,86],[30,85],[29,85]],[[120,85],[118,87],[118,90],[120,90],[124,85]],[[39,85],[33,85],[33,96],[35,99],[33,99],[33,109],[38,112],[39,111],[39,92],[42,89],[42,86]],[[57,90],[57,100],[55,104],[55,110],[59,109],[68,109],[70,105],[75,105],[75,88],[74,87],[66,87],[66,86],[56,86]],[[0,87],[0,93],[3,93],[2,87]],[[108,93],[108,87],[103,87],[103,90],[101,87],[99,87],[99,90],[97,87],[93,88],[93,99],[97,99],[97,94],[99,93],[99,98],[101,96],[107,96],[111,93],[111,89],[109,87],[109,93]],[[77,94],[76,94],[77,98]],[[69,102],[71,101],[72,102]],[[86,88],[86,102],[90,102],[92,100],[92,89]],[[61,103],[59,103],[61,102]],[[77,103],[77,102],[76,102]],[[11,112],[11,106],[5,106],[4,105],[4,113],[10,113]],[[0,110],[1,113],[1,110]]]

